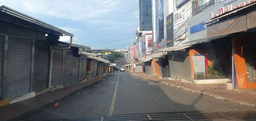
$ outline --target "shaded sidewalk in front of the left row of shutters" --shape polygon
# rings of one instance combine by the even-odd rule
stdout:
[[[102,79],[108,77],[111,74],[112,73],[99,78],[90,79],[89,81],[77,83],[66,88],[57,89],[52,92],[47,92],[35,96],[34,98],[27,99],[25,101],[20,101],[14,104],[0,107],[0,121],[15,121],[18,118],[21,118],[24,115],[28,115],[40,109],[41,107],[44,107],[47,104],[52,104],[53,106],[53,104],[58,102],[61,98],[64,98],[65,96],[73,92],[76,92],[86,86],[95,84],[96,82],[101,81]]]

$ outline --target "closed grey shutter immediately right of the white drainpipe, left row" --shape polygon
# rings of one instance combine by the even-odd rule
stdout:
[[[53,49],[52,55],[52,81],[51,86],[61,85],[61,68],[62,68],[62,49]]]

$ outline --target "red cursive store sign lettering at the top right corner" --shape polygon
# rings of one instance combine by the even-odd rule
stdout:
[[[223,1],[232,1],[232,2],[234,2],[234,1],[236,1],[236,0],[223,0]],[[232,2],[229,2],[229,3],[232,3]],[[252,4],[252,3],[255,3],[256,2],[256,0],[248,0],[248,1],[246,1],[246,2],[244,2],[244,3],[239,3],[239,4],[237,4],[237,5],[235,5],[235,6],[233,6],[233,5],[227,5],[227,4],[229,4],[229,3],[227,3],[227,4],[225,4],[225,5],[227,5],[227,6],[225,6],[225,7],[220,7],[219,9],[218,9],[218,14],[214,14],[213,12],[210,12],[210,19],[212,19],[212,18],[215,18],[215,17],[218,17],[218,16],[220,16],[221,14],[224,14],[224,13],[226,13],[226,12],[229,12],[229,11],[232,11],[233,9],[238,9],[238,8],[241,8],[241,7],[243,7],[243,6],[247,6],[247,5],[249,5],[249,4]],[[223,4],[224,5],[224,4]]]

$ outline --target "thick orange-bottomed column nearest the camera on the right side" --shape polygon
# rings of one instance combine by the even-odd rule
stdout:
[[[245,59],[243,58],[241,37],[238,34],[231,36],[233,46],[233,57],[236,69],[236,80],[239,89],[248,88],[247,70]]]

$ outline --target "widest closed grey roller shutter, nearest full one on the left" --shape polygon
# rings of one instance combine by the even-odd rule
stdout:
[[[29,92],[32,40],[9,37],[7,97],[15,99]]]

